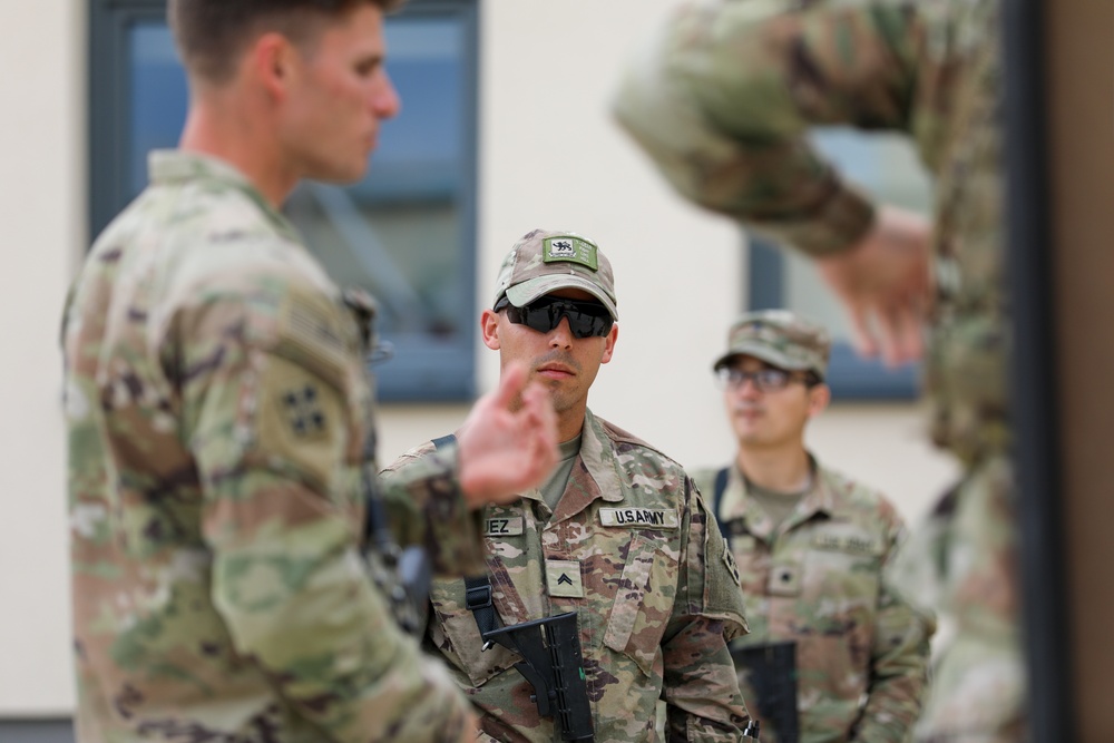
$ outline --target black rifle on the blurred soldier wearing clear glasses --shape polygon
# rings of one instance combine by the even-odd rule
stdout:
[[[801,724],[797,713],[797,643],[733,647],[731,657],[736,668],[745,669],[754,690],[756,716],[773,729],[778,743],[798,743]]]

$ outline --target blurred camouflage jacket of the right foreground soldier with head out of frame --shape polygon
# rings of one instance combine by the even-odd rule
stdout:
[[[937,185],[926,390],[934,437],[966,461],[1008,443],[998,4],[692,2],[615,100],[682,194],[811,255],[854,245],[874,207],[809,145],[809,127],[913,138]]]

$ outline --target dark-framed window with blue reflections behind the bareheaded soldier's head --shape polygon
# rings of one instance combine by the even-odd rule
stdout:
[[[387,21],[388,70],[403,100],[368,176],[301,184],[284,212],[333,280],[379,303],[393,348],[381,400],[475,392],[476,0],[412,0]],[[146,154],[174,147],[186,84],[164,0],[95,0],[90,17],[90,227],[147,183]]]

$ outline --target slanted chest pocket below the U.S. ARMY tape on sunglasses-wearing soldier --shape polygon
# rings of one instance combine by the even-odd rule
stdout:
[[[676,600],[678,560],[657,541],[634,535],[607,620],[604,644],[631,656],[652,674],[661,657],[662,635]]]

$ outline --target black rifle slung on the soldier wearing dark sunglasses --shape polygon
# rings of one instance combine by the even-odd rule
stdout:
[[[534,687],[538,714],[553,717],[563,741],[593,741],[592,705],[584,677],[576,612],[483,633],[483,647],[499,643],[522,656],[515,664]]]

